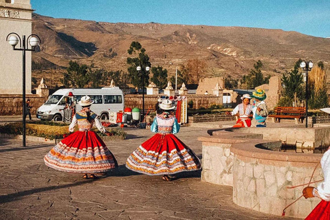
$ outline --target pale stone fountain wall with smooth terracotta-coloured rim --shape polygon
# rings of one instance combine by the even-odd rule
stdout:
[[[322,154],[270,151],[267,148],[280,148],[281,141],[263,140],[264,134],[260,132],[245,133],[243,131],[246,129],[239,130],[223,129],[213,133],[216,135],[198,138],[203,143],[201,180],[232,186],[233,201],[237,205],[281,216],[285,206],[298,199],[305,187],[288,186],[308,184],[309,179],[322,179],[320,166],[316,168]],[[319,131],[313,130],[316,133]],[[283,133],[288,132],[285,130]],[[316,171],[311,178],[314,168]],[[305,218],[319,202],[318,198],[300,199],[287,208],[285,216]]]

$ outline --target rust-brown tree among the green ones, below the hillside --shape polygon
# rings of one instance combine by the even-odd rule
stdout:
[[[186,69],[188,70],[189,83],[198,84],[206,73],[206,63],[198,58],[188,60]]]

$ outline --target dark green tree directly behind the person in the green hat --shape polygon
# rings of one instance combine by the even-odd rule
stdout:
[[[261,72],[263,63],[259,60],[253,66],[254,69],[250,70],[250,74],[243,76],[241,84],[245,84],[247,89],[254,89],[259,87],[259,85],[270,83],[270,76],[263,78],[263,73]]]

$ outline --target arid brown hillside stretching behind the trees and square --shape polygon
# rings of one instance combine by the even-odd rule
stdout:
[[[298,58],[323,61],[329,69],[330,39],[262,28],[168,25],[160,23],[104,23],[54,19],[33,14],[33,30],[41,39],[34,63],[50,68],[66,67],[70,60],[107,70],[126,72],[127,50],[132,41],[146,49],[153,66],[169,75],[175,65],[199,58],[208,66],[208,76],[239,78],[261,60],[265,74],[292,69]],[[172,65],[170,63],[173,63]],[[327,71],[329,73],[329,71]],[[41,76],[45,71],[36,71]]]

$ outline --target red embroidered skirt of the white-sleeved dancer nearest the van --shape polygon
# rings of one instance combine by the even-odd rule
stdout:
[[[72,173],[103,173],[118,166],[113,154],[94,131],[76,131],[43,158],[56,170]]]

